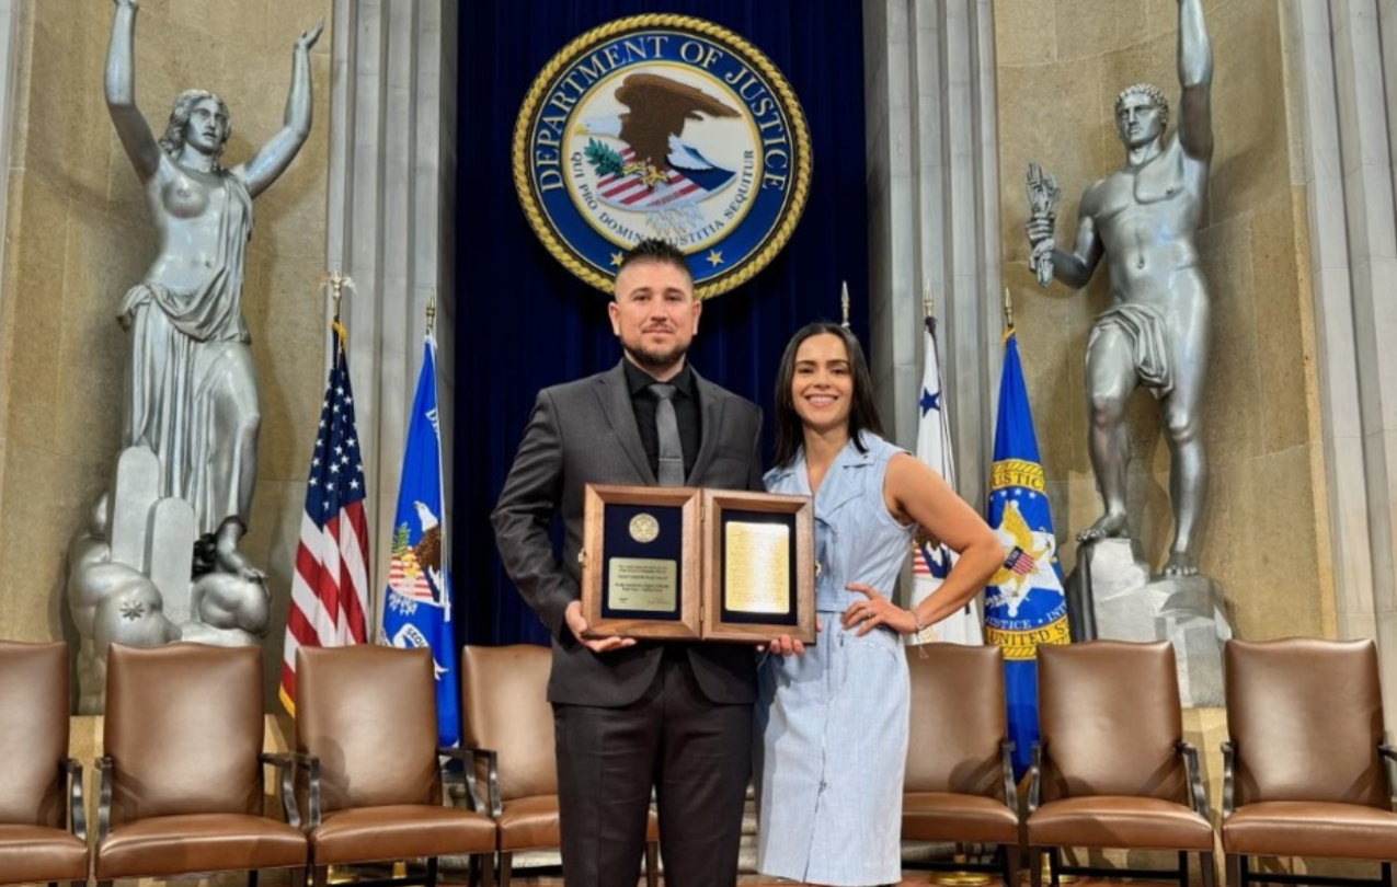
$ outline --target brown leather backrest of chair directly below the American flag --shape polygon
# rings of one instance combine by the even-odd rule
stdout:
[[[296,749],[320,758],[326,813],[441,803],[432,652],[298,650]]]

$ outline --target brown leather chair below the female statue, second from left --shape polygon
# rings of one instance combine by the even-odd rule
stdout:
[[[261,677],[256,647],[110,647],[99,883],[247,870],[256,884],[258,869],[291,869],[303,883],[291,761],[263,753]],[[279,768],[288,821],[263,814],[267,764]]]

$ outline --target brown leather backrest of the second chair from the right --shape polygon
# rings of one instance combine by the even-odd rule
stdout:
[[[1038,647],[1038,726],[1042,802],[1091,795],[1187,802],[1168,641]]]

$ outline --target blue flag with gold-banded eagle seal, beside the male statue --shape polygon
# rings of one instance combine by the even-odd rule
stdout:
[[[985,640],[1004,651],[1009,738],[1020,777],[1038,740],[1038,645],[1069,641],[1067,598],[1045,490],[1018,341],[1010,328],[989,482],[989,525],[1009,555],[985,588]]]

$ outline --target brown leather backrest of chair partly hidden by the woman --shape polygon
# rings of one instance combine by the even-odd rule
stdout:
[[[1004,657],[999,647],[908,650],[912,718],[905,792],[1004,798]]]

